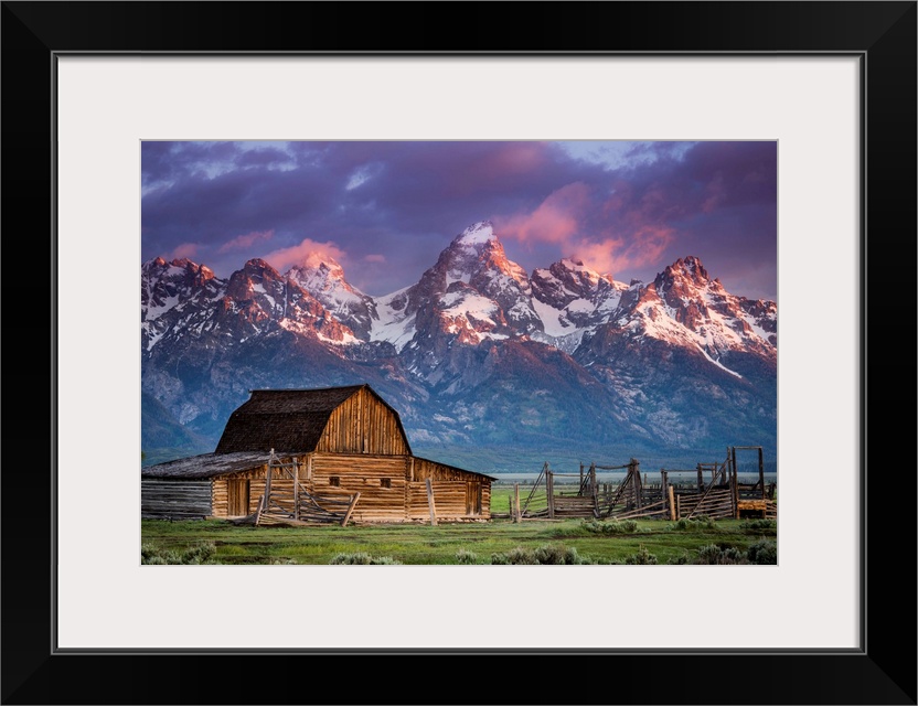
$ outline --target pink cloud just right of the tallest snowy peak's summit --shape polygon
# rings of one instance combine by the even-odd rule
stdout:
[[[494,227],[502,237],[521,243],[569,243],[579,227],[579,215],[587,206],[589,188],[575,182],[548,195],[530,214],[494,218]]]

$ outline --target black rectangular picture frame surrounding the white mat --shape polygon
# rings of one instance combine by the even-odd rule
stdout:
[[[2,703],[916,704],[915,387],[905,384],[915,372],[915,329],[890,328],[884,315],[893,309],[903,321],[896,308],[914,315],[915,306],[916,9],[914,1],[3,2],[0,291],[3,368],[15,386],[2,403]],[[54,319],[54,275],[65,264],[55,260],[53,107],[55,57],[74,52],[858,56],[862,649],[58,653],[55,365],[75,343],[56,339]],[[814,507],[813,522],[825,523],[831,542],[831,509]],[[231,678],[264,670],[296,676]]]

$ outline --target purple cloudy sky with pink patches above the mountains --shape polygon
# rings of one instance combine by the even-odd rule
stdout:
[[[334,257],[369,295],[417,281],[490,220],[527,271],[576,257],[619,281],[701,258],[777,301],[777,142],[143,142],[141,252],[228,277]]]

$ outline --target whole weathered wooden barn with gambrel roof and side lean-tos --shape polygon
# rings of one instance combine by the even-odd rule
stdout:
[[[213,453],[141,469],[141,517],[490,520],[493,480],[414,456],[398,413],[369,385],[256,389]]]

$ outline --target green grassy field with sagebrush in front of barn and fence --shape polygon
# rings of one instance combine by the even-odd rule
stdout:
[[[506,513],[511,489],[494,488]],[[773,522],[526,521],[255,527],[141,522],[145,564],[776,564]],[[751,547],[751,553],[750,553]]]

